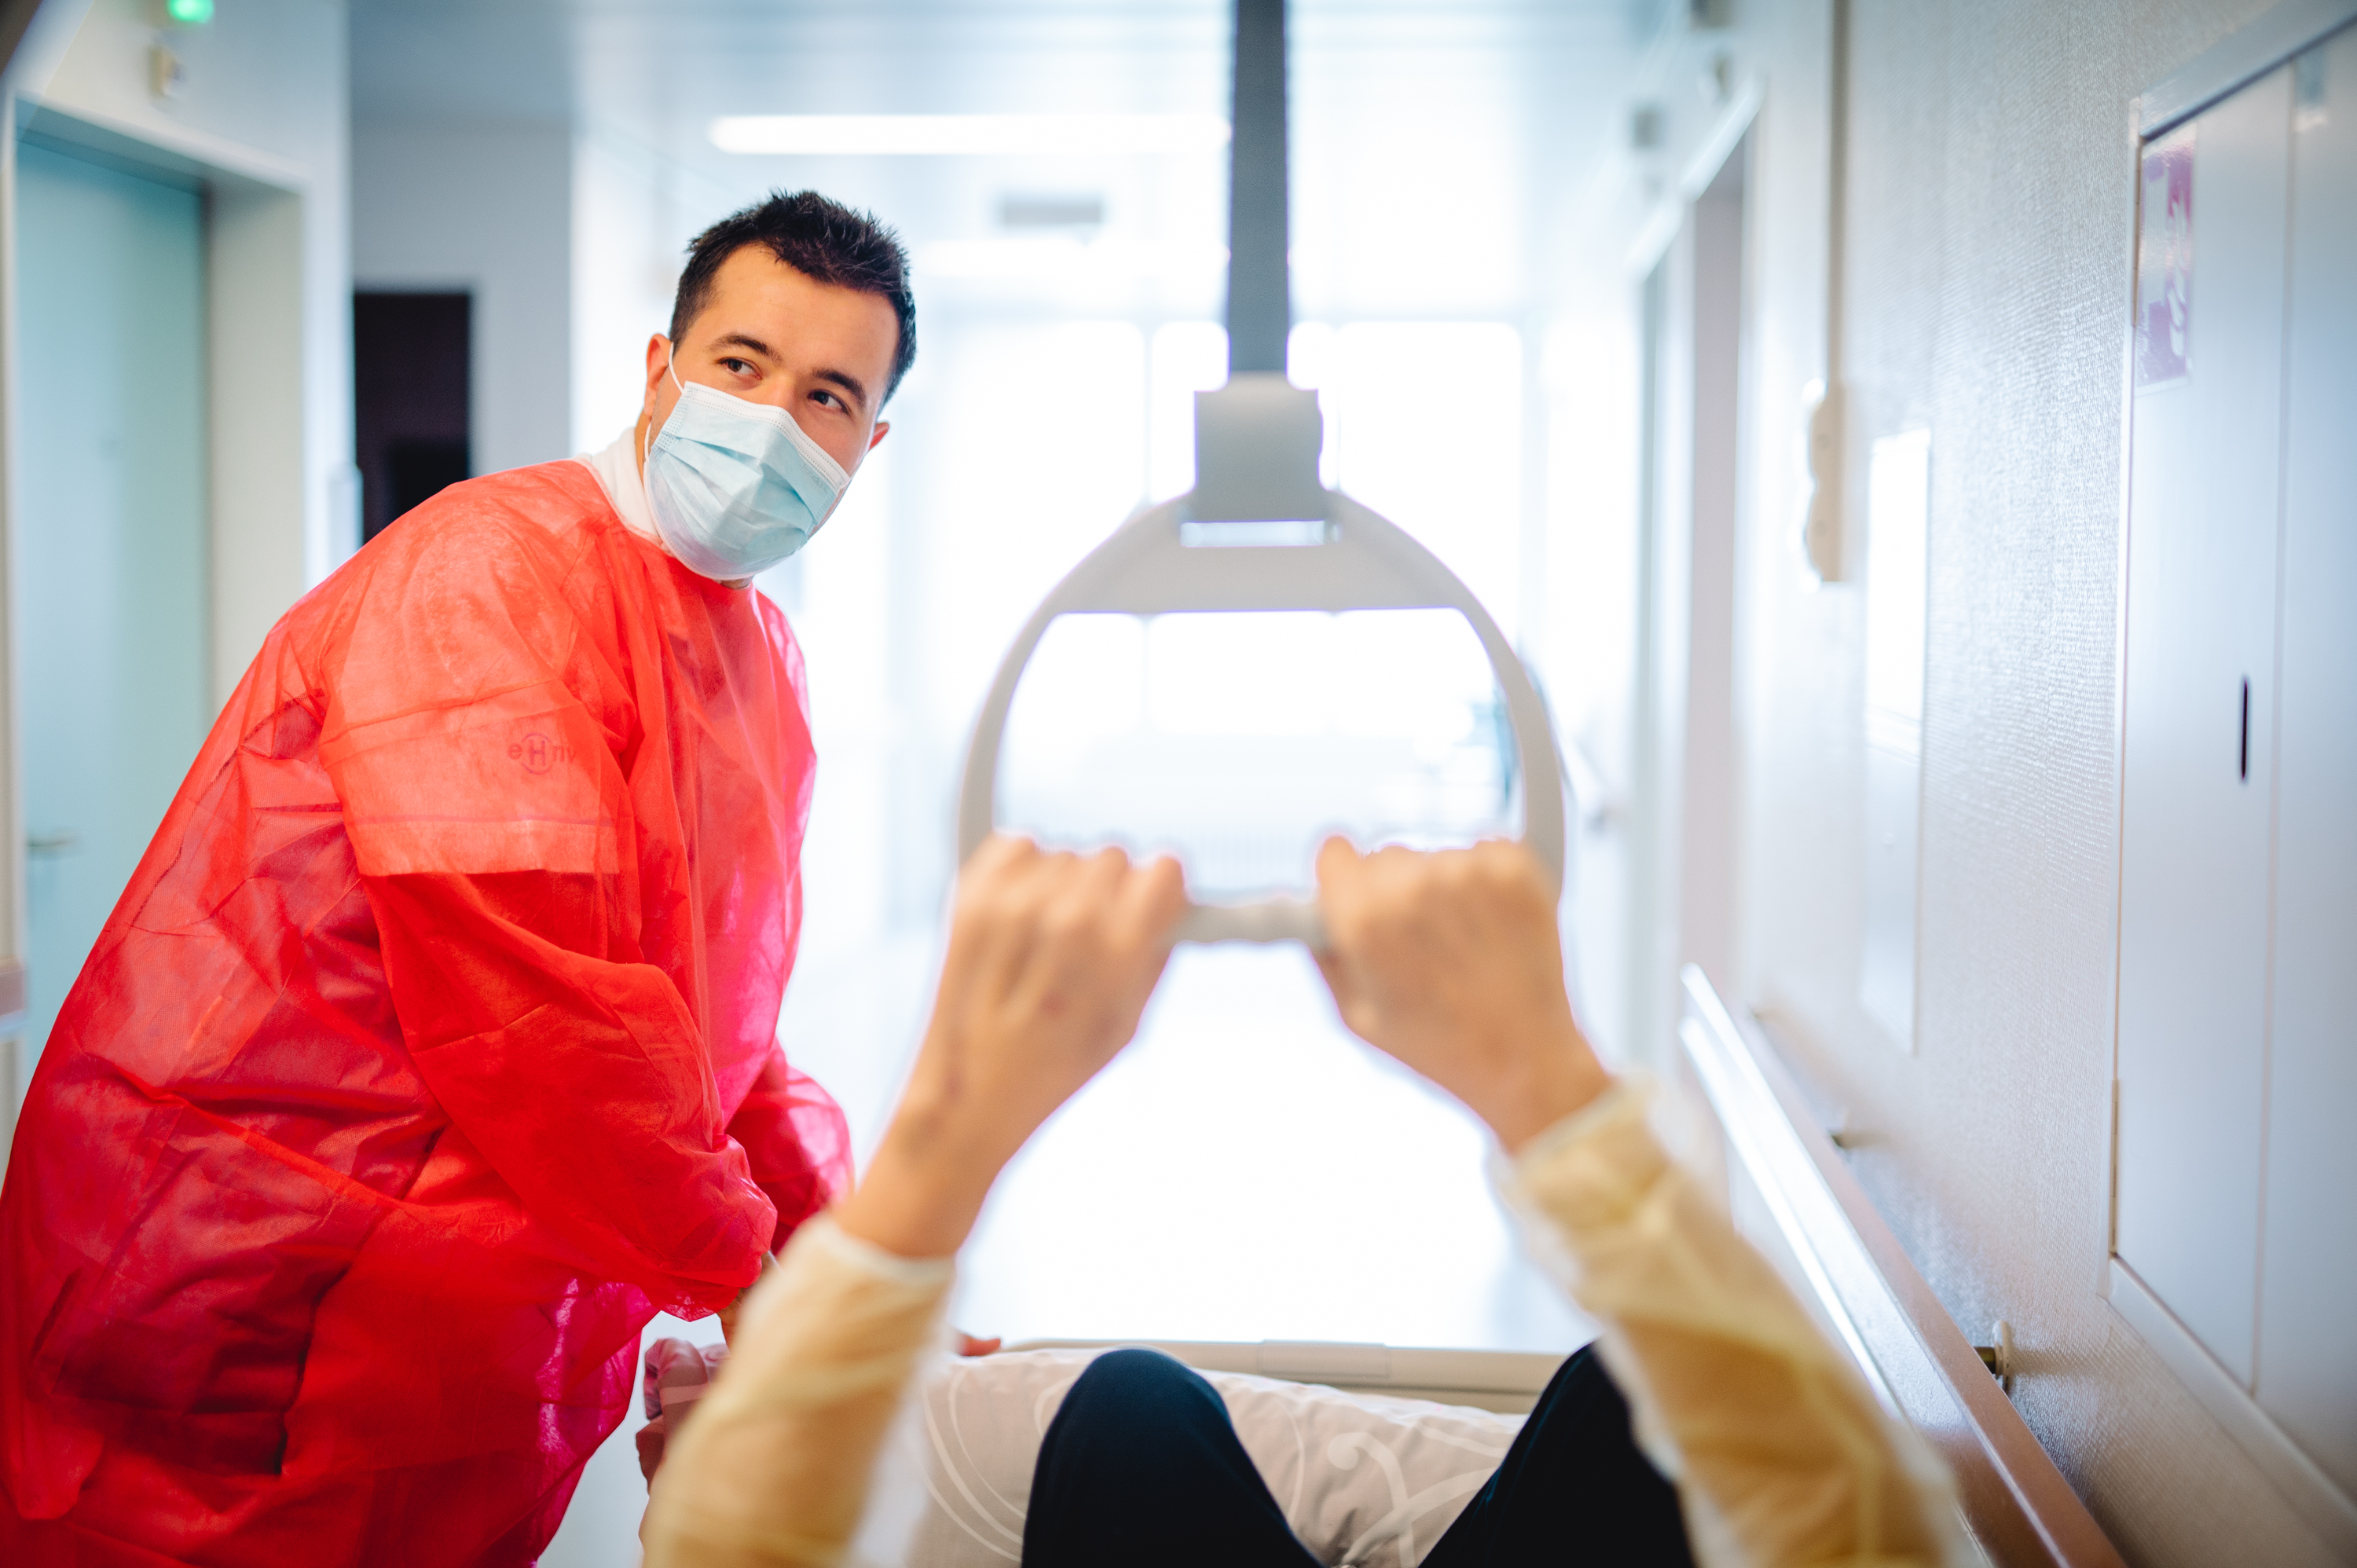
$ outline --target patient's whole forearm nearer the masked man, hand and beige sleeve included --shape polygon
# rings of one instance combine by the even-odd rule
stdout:
[[[957,877],[933,1019],[858,1191],[787,1243],[728,1370],[655,1474],[655,1568],[832,1563],[940,1323],[950,1257],[999,1167],[1138,1028],[1169,962],[1176,861],[992,835]]]

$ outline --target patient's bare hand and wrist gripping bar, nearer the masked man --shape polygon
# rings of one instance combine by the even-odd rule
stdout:
[[[957,1252],[999,1167],[1129,1045],[1183,913],[1176,861],[985,842],[957,877],[933,1021],[837,1210],[844,1231],[900,1257]]]

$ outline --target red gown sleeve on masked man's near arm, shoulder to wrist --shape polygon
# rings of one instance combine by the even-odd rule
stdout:
[[[318,653],[318,755],[410,1056],[521,1200],[516,1243],[658,1306],[719,1309],[778,1214],[726,1132],[695,1007],[641,950],[651,917],[693,924],[648,913],[641,868],[726,849],[632,790],[674,788],[643,755],[639,691],[660,672],[582,625],[561,533],[448,507],[387,542]],[[632,613],[655,611],[615,608]]]

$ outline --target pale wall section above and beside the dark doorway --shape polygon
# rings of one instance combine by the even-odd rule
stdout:
[[[476,474],[573,441],[573,134],[563,125],[351,130],[354,288],[474,295]],[[610,431],[608,431],[610,434]]]

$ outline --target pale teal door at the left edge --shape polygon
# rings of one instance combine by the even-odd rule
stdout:
[[[205,198],[193,179],[24,137],[16,236],[12,611],[38,1061],[212,719]]]

